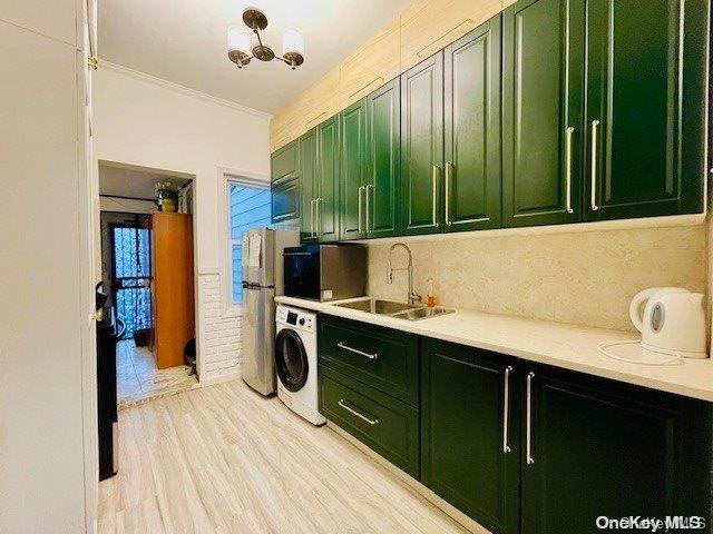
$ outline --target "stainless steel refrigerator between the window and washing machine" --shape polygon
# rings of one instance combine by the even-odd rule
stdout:
[[[275,296],[283,294],[282,251],[300,244],[300,233],[255,228],[243,235],[243,325],[241,375],[263,395],[275,393]]]

